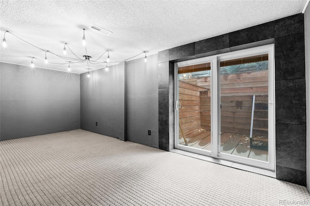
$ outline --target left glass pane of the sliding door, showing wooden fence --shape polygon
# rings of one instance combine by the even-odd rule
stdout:
[[[179,144],[211,150],[211,64],[178,68]]]

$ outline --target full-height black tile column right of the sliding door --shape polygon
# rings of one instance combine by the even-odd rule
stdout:
[[[304,15],[275,21],[277,178],[306,186]]]

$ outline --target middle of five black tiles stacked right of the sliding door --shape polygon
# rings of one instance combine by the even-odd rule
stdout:
[[[306,124],[306,81],[276,81],[276,123]]]

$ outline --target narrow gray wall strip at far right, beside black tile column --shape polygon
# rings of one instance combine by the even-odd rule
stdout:
[[[306,103],[307,103],[307,187],[310,191],[310,5],[305,12],[305,63],[306,63]]]

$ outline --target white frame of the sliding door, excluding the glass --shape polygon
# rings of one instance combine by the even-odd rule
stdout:
[[[268,161],[248,159],[235,155],[220,153],[220,81],[219,77],[219,62],[235,58],[243,58],[253,55],[268,54]],[[178,113],[178,67],[189,66],[199,63],[211,63],[211,151],[202,150],[193,147],[187,147],[178,144],[179,137],[179,113]],[[258,46],[254,48],[182,61],[174,64],[174,145],[177,149],[202,154],[218,159],[228,160],[231,162],[242,163],[250,166],[255,166],[263,169],[275,171],[275,63],[274,63],[274,44]],[[216,91],[216,92],[214,92]]]

